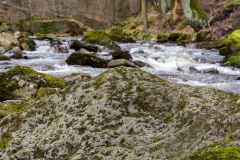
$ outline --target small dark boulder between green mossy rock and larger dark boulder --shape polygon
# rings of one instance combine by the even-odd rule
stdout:
[[[71,49],[74,49],[75,51],[79,51],[80,49],[86,49],[89,52],[98,52],[99,48],[95,45],[91,45],[91,44],[87,44],[78,40],[74,40],[71,45],[70,45]]]

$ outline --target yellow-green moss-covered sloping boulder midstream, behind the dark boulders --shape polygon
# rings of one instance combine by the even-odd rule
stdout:
[[[120,49],[119,45],[109,38],[108,34],[103,31],[93,30],[88,32],[82,40],[87,43],[106,46],[109,49]]]

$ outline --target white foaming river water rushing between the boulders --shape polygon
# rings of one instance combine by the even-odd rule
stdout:
[[[33,37],[36,38],[36,37]],[[69,66],[65,59],[74,50],[69,49],[72,40],[80,38],[57,38],[66,53],[58,53],[49,40],[37,40],[36,51],[24,51],[25,59],[0,61],[0,72],[5,72],[16,65],[28,66],[38,72],[59,76],[70,73],[89,73],[97,76],[107,68]],[[240,69],[221,66],[223,57],[217,50],[195,49],[177,44],[157,44],[139,41],[137,43],[119,44],[129,50],[133,60],[148,63],[150,67],[142,70],[155,74],[170,82],[184,83],[191,86],[210,86],[213,88],[240,94]],[[101,47],[96,55],[106,60],[111,59],[109,50]]]

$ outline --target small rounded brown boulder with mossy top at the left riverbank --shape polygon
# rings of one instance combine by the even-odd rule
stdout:
[[[36,49],[36,43],[34,42],[34,40],[27,36],[20,36],[17,40],[22,50],[34,51]]]

